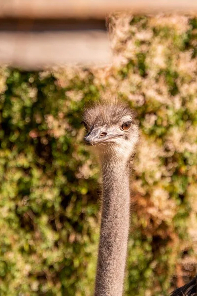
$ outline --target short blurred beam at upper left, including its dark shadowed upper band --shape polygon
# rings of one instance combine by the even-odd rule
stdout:
[[[104,19],[0,19],[0,64],[39,70],[111,62]]]

